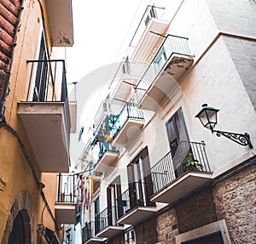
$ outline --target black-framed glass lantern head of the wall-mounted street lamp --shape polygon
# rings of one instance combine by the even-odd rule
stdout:
[[[201,111],[195,116],[198,117],[205,128],[213,129],[217,124],[217,112],[219,110],[203,105]]]

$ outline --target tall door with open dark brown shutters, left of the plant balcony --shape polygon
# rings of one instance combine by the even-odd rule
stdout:
[[[153,184],[149,173],[148,147],[145,147],[127,166],[131,209],[137,206],[154,206],[149,201]]]

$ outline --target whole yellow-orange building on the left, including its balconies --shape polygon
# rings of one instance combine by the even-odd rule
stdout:
[[[64,183],[61,174],[70,166],[71,1],[6,0],[0,9],[0,241],[61,243],[77,209],[76,176]]]

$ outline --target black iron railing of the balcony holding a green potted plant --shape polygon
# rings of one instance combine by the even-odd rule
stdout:
[[[182,141],[175,154],[168,152],[150,169],[154,194],[188,171],[211,173],[203,142]]]

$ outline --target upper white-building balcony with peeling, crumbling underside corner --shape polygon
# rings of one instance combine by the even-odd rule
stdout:
[[[168,35],[154,56],[137,89],[143,92],[138,107],[157,111],[166,100],[172,102],[172,93],[194,62],[188,38]]]

